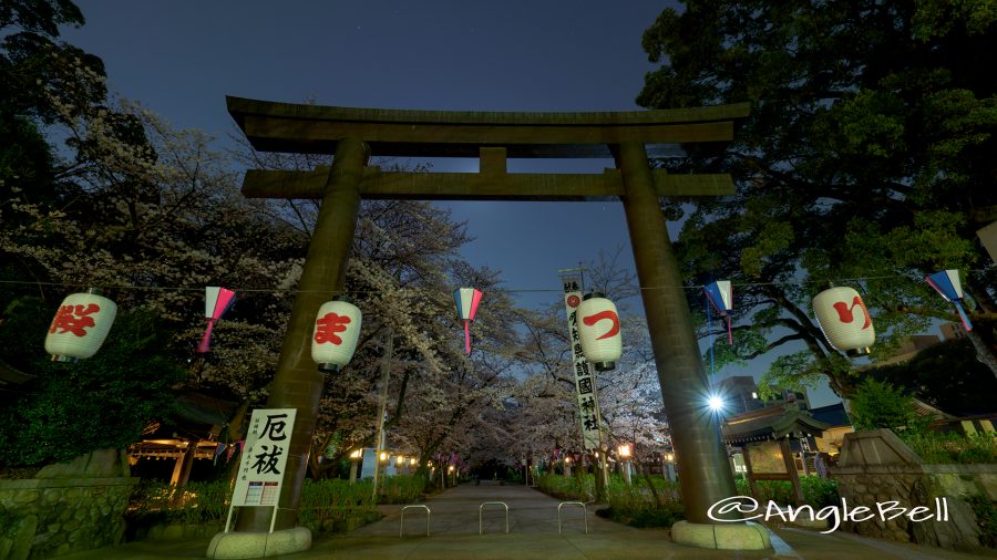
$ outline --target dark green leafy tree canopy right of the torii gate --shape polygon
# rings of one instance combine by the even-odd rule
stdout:
[[[693,283],[736,284],[727,361],[787,343],[770,378],[826,374],[851,393],[852,364],[810,311],[826,281],[855,287],[881,335],[918,332],[953,308],[923,281],[959,269],[993,360],[997,268],[975,231],[997,219],[997,12],[987,2],[690,1],[644,35],[662,66],[650,108],[749,101],[730,149],[689,147],[675,173],[731,173],[738,194],[699,205],[678,243]],[[883,336],[888,334],[890,336]],[[991,362],[997,367],[997,362]]]

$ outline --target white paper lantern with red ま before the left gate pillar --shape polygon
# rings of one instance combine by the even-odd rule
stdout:
[[[327,301],[315,319],[311,359],[319,371],[336,373],[353,357],[360,338],[360,308],[341,295]]]

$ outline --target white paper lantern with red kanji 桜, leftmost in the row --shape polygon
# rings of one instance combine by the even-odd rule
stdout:
[[[49,326],[45,352],[52,354],[54,362],[76,362],[92,356],[107,338],[115,315],[117,304],[94,289],[68,295]]]

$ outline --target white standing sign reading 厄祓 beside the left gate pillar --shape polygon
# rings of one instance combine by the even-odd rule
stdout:
[[[280,497],[280,485],[284,483],[284,470],[287,465],[287,450],[291,433],[294,433],[296,408],[258,408],[249,417],[249,434],[245,448],[239,457],[239,474],[236,477],[232,508],[236,506],[273,506],[274,519],[277,518],[277,500]],[[225,522],[228,531],[228,521]],[[274,532],[273,520],[270,532]]]

